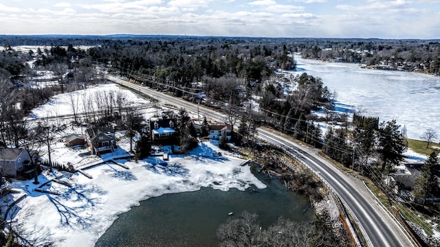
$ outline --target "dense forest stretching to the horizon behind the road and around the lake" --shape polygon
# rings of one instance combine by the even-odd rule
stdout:
[[[257,128],[267,126],[322,148],[323,154],[371,178],[390,197],[395,194],[383,187],[381,176],[404,158],[408,146],[404,129],[395,120],[379,122],[375,117],[355,116],[349,124],[347,115],[331,113],[335,93],[321,78],[280,71],[295,69],[295,57],[301,56],[355,62],[365,69],[440,72],[440,40],[130,35],[3,35],[0,40],[2,147],[23,145],[21,140],[30,133],[23,117],[32,108],[57,93],[104,82],[104,73],[111,73],[223,111],[228,124],[239,122],[232,140],[236,145],[258,148]],[[23,52],[19,46],[37,48]],[[52,71],[56,83],[34,86],[37,71]],[[252,110],[252,102],[259,105],[258,112]],[[311,115],[319,109],[327,113],[324,118]],[[103,114],[89,121],[105,124],[113,119]],[[322,134],[316,124],[320,121],[343,124]],[[430,164],[439,166],[434,157]],[[426,184],[420,182],[419,187]],[[423,191],[416,191],[423,201],[438,195],[438,188]]]

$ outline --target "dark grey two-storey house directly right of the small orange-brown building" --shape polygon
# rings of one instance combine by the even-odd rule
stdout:
[[[87,143],[93,154],[113,152],[116,148],[115,130],[109,127],[87,129]]]

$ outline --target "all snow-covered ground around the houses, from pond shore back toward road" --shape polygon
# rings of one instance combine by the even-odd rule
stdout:
[[[132,106],[148,103],[115,84],[105,84],[85,91],[56,95],[47,104],[33,110],[30,118],[72,114],[69,95],[80,97],[84,92],[93,95],[96,91],[123,91]],[[78,111],[81,112],[82,103],[78,104]],[[144,116],[151,117],[155,112],[155,109],[146,109]],[[72,119],[61,121],[68,124]],[[14,201],[25,196],[8,211],[8,220],[12,220],[14,230],[34,246],[47,243],[54,243],[54,246],[94,246],[118,214],[129,211],[141,200],[164,193],[195,191],[201,187],[222,191],[231,188],[244,190],[250,185],[265,188],[252,175],[250,167],[241,166],[243,159],[225,152],[222,152],[222,156],[214,156],[214,153],[220,152],[215,141],[199,143],[187,156],[170,155],[169,161],[163,161],[162,156],[142,161],[118,159],[118,163],[129,168],[125,169],[109,162],[111,158],[129,154],[129,139],[124,137],[124,132],[116,133],[118,148],[115,152],[98,157],[89,155],[88,148],[72,149],[65,146],[63,137],[83,131],[81,126],[65,129],[52,143],[51,156],[56,163],[70,163],[74,167],[99,164],[85,169],[92,178],[78,172],[69,174],[45,170],[39,176],[39,185],[34,185],[33,180],[14,180],[12,187],[17,192],[0,199],[1,210],[6,212]],[[45,150],[43,146],[43,159],[47,158]],[[52,178],[67,182],[72,187],[57,183]],[[37,187],[52,193],[35,191]]]

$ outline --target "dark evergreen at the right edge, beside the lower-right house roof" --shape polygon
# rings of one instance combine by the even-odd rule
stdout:
[[[435,167],[437,165],[439,165],[437,154],[432,152],[428,161],[423,164],[421,176],[415,182],[414,196],[422,198],[423,203],[426,199],[436,196],[439,191],[439,182],[435,176]]]

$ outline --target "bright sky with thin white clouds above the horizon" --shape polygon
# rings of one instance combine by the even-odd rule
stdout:
[[[440,0],[0,0],[0,34],[440,38]]]

